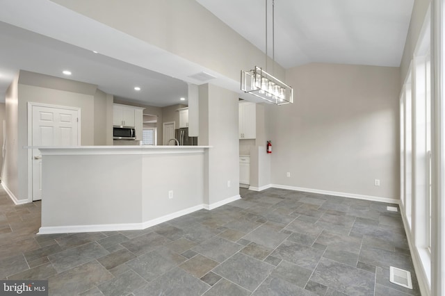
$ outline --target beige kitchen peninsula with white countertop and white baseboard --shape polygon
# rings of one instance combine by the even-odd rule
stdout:
[[[145,229],[240,198],[209,203],[204,193],[209,146],[38,148],[39,234]]]

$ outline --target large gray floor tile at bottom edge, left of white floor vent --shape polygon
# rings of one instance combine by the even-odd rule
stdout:
[[[348,295],[374,295],[375,274],[322,258],[311,281]]]

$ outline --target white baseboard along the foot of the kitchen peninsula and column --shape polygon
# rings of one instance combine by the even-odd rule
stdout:
[[[99,232],[99,231],[121,231],[121,230],[138,230],[146,229],[148,227],[153,227],[154,225],[161,224],[163,222],[170,221],[177,217],[193,213],[195,211],[202,210],[203,208],[207,210],[213,210],[213,208],[218,208],[230,202],[234,202],[241,199],[239,195],[234,197],[229,197],[220,202],[214,204],[200,204],[197,206],[192,206],[191,208],[186,208],[175,213],[168,215],[163,215],[155,219],[141,222],[141,223],[124,223],[124,224],[94,224],[94,225],[70,225],[70,226],[58,226],[58,227],[40,227],[37,234],[53,234],[53,233],[79,233],[79,232]]]

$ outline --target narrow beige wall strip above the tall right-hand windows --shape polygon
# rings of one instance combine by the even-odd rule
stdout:
[[[423,19],[425,19],[428,7],[430,6],[430,0],[414,0],[414,7],[412,8],[410,28],[408,29],[407,38],[405,42],[405,49],[403,51],[401,61],[401,85],[405,82],[408,68],[416,48],[417,40],[419,40],[419,34],[423,25]]]

